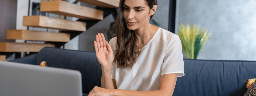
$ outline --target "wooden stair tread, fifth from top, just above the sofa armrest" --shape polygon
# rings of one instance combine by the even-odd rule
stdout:
[[[0,52],[39,52],[44,47],[55,47],[55,44],[0,42]]]

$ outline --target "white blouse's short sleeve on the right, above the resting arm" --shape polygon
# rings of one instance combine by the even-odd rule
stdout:
[[[184,61],[181,41],[178,35],[171,37],[166,47],[166,55],[161,65],[161,76],[164,74],[178,73],[178,77],[184,76]]]

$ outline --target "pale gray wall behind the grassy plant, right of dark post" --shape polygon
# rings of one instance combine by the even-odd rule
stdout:
[[[212,36],[205,60],[256,60],[256,0],[179,0],[179,25],[196,23]]]

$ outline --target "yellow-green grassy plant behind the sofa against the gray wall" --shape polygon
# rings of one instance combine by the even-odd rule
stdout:
[[[196,24],[187,24],[187,26],[181,24],[178,27],[178,36],[180,37],[182,51],[186,58],[197,59],[198,53],[212,34],[208,32],[208,29],[201,28]]]

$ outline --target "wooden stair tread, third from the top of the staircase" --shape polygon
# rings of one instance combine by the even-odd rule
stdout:
[[[23,26],[53,28],[69,31],[86,31],[85,22],[63,20],[41,15],[23,16]]]

